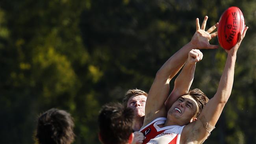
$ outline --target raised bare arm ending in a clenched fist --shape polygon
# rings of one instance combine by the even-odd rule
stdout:
[[[173,103],[182,95],[187,94],[194,79],[196,63],[203,58],[200,50],[191,50],[188,54],[188,59],[182,68],[182,71],[174,81],[174,88],[165,102],[166,110],[168,111]]]

